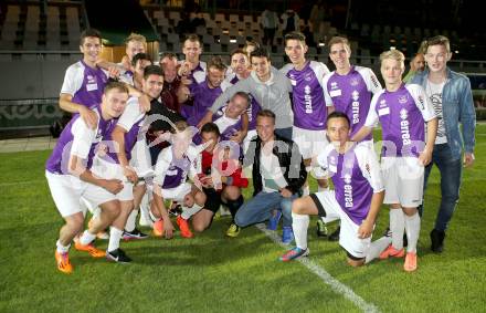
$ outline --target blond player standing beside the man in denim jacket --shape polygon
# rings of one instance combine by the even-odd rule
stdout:
[[[437,117],[420,85],[404,85],[403,53],[398,50],[385,51],[381,53],[380,60],[385,88],[371,100],[364,125],[352,139],[362,140],[380,122],[383,138],[381,166],[385,189],[383,202],[390,205],[392,238],[392,243],[381,253],[380,259],[402,258],[405,254],[405,230],[408,247],[403,269],[412,272],[418,267],[416,243],[421,223],[418,207],[423,198],[424,166],[432,158]]]

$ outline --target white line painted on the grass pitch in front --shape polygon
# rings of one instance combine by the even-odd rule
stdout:
[[[281,238],[275,233],[275,231],[267,230],[264,223],[257,223],[255,225],[255,227],[260,229],[262,232],[264,232],[266,237],[272,239],[275,243],[288,249],[287,246],[282,243]],[[320,268],[315,262],[310,261],[309,258],[299,258],[297,259],[297,261],[300,262],[304,267],[306,267],[309,271],[318,275],[336,293],[342,294],[346,299],[355,303],[356,306],[358,306],[361,311],[380,312],[380,310],[378,310],[378,307],[374,304],[366,302],[361,296],[356,294],[352,291],[352,289],[350,289],[346,284],[341,283],[340,281],[331,277],[331,274],[329,274],[325,269]]]

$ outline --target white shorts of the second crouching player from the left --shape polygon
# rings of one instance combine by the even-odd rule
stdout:
[[[134,184],[127,181],[122,166],[116,163],[106,161],[97,156],[93,158],[93,166],[91,168],[93,175],[103,179],[119,179],[124,184],[124,189],[116,194],[116,199],[120,201],[134,200]]]

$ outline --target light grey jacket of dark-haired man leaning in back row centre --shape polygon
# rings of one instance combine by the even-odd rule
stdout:
[[[210,107],[215,113],[224,106],[230,98],[237,92],[250,93],[262,108],[272,109],[276,115],[275,128],[287,128],[294,125],[294,113],[292,112],[290,81],[276,69],[271,70],[271,77],[263,83],[258,80],[255,72],[250,76],[226,88]]]

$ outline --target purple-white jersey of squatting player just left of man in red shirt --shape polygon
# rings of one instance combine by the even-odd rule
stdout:
[[[181,159],[173,157],[172,149],[173,146],[162,149],[157,158],[154,182],[162,189],[176,188],[187,181],[188,175],[193,178],[198,173],[196,169],[198,153],[194,147],[190,146],[189,149],[192,152],[188,150]]]

